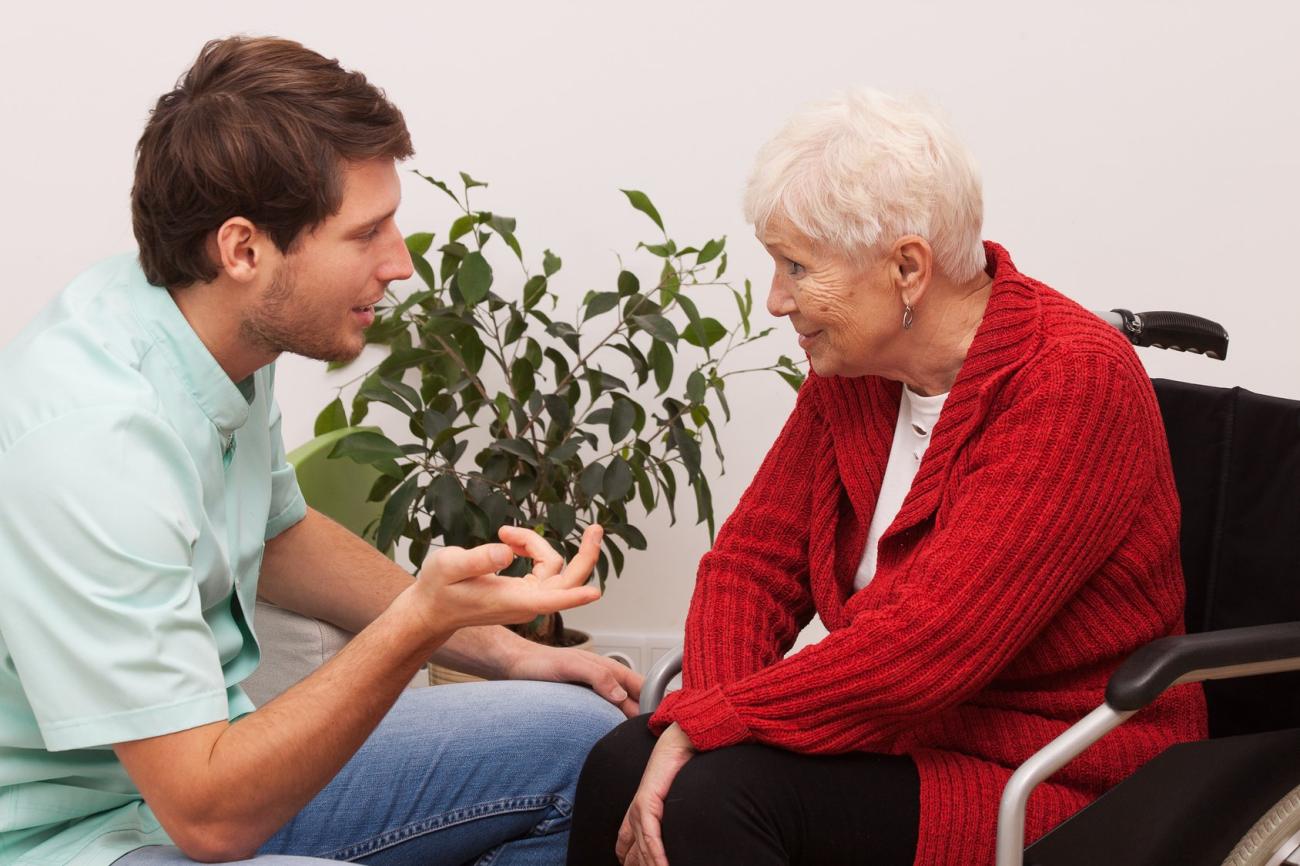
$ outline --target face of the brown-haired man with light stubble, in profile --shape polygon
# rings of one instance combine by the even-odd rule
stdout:
[[[343,168],[343,205],[285,255],[240,334],[260,348],[351,360],[387,285],[412,273],[394,215],[402,199],[393,160]]]

